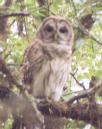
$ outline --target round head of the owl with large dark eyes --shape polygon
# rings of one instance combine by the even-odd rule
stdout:
[[[73,28],[69,21],[60,16],[50,16],[40,25],[37,37],[44,43],[68,44],[73,43]]]

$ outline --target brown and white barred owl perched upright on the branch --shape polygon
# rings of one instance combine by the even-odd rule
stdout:
[[[40,25],[35,40],[25,50],[23,83],[38,98],[58,101],[67,80],[73,45],[69,21],[50,16]]]

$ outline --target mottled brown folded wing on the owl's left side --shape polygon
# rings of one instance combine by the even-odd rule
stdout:
[[[41,67],[41,62],[43,61],[43,53],[39,44],[39,40],[36,40],[31,44],[24,53],[23,64],[22,64],[22,81],[25,84],[31,84],[33,77]]]

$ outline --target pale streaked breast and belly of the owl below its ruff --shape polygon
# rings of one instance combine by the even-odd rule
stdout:
[[[68,61],[55,58],[45,60],[33,81],[33,94],[59,100],[68,77]]]

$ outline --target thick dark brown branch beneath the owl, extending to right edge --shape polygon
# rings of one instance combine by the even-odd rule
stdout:
[[[99,129],[102,127],[102,105],[99,104],[92,104],[90,106],[89,103],[61,104],[61,102],[59,102],[59,104],[51,103],[44,107],[40,107],[40,110],[46,115],[66,117],[67,119],[73,120],[82,120]]]

